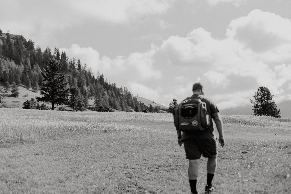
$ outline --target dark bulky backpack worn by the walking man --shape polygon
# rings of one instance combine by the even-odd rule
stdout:
[[[180,131],[204,130],[210,125],[206,103],[201,96],[184,99],[174,111],[174,124]],[[203,99],[203,98],[202,98]]]

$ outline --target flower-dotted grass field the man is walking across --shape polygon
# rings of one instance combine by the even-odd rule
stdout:
[[[190,193],[171,114],[0,108],[0,115],[0,193]],[[212,193],[291,193],[291,120],[223,122]]]

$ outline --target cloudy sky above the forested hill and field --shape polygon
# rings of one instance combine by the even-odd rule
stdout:
[[[134,95],[168,104],[193,83],[220,109],[258,87],[291,100],[290,0],[0,0],[0,29],[58,47]]]

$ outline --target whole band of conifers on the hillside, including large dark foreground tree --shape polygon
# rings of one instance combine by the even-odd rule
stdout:
[[[153,107],[137,101],[136,97],[126,87],[117,87],[110,83],[100,72],[95,76],[86,64],[80,59],[69,58],[64,51],[58,48],[54,51],[47,47],[44,51],[34,46],[30,39],[8,32],[1,36],[0,44],[0,82],[13,84],[13,87],[23,84],[38,92],[41,88],[42,96],[48,92],[49,87],[60,87],[55,92],[57,99],[50,100],[36,98],[39,102],[55,104],[68,104],[73,111],[84,111],[87,108],[94,111],[136,111],[159,112],[159,106]],[[50,74],[54,71],[54,75]],[[57,75],[56,75],[57,74]],[[58,86],[53,80],[58,80]],[[15,85],[15,86],[14,86]],[[64,93],[61,95],[61,93]],[[49,98],[49,97],[47,97]],[[93,107],[88,107],[88,100],[93,99]],[[27,104],[26,104],[27,105]],[[29,106],[25,106],[26,108]],[[35,107],[35,106],[32,106]]]

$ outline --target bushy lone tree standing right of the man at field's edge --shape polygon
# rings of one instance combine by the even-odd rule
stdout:
[[[253,115],[265,115],[281,118],[280,110],[277,108],[277,105],[273,100],[274,95],[271,95],[271,92],[268,88],[263,86],[259,87],[253,97],[255,101],[250,100],[250,102],[253,104]]]

